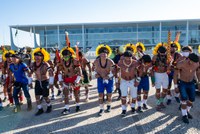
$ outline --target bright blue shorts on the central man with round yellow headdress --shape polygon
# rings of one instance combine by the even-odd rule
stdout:
[[[114,87],[113,78],[108,80],[108,84],[103,83],[102,78],[97,78],[98,93],[104,93],[104,90],[106,90],[107,93],[112,93],[113,87]]]

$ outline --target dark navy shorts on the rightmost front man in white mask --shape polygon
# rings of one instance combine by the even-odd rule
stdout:
[[[195,84],[194,82],[184,82],[180,80],[179,83],[180,96],[182,101],[195,101]]]

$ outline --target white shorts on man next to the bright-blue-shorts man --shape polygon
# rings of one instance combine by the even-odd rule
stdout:
[[[122,96],[128,95],[128,89],[130,89],[131,97],[137,98],[137,87],[134,86],[135,80],[126,81],[124,79],[121,79],[120,81],[120,90]]]

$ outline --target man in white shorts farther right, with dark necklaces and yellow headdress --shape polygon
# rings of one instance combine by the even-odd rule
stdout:
[[[167,94],[167,89],[169,85],[169,78],[167,72],[170,68],[170,63],[167,59],[167,44],[166,43],[158,43],[153,51],[153,71],[154,76],[152,77],[152,85],[155,85],[156,88],[156,98],[157,98],[157,106],[156,110],[161,111],[162,108],[165,108],[163,104],[164,98]],[[161,91],[162,88],[162,91]]]

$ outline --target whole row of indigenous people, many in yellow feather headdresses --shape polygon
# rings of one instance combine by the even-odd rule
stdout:
[[[196,87],[200,83],[200,67],[199,57],[190,46],[181,49],[176,41],[170,44],[158,43],[151,56],[145,54],[143,43],[129,43],[120,47],[116,56],[111,59],[109,57],[112,49],[108,45],[100,44],[96,48],[97,58],[92,64],[81,51],[75,52],[69,46],[57,52],[52,62],[50,54],[44,48],[34,49],[32,55],[30,52],[4,50],[1,79],[5,98],[0,99],[0,110],[7,96],[9,105],[15,106],[14,112],[21,110],[23,96],[27,100],[27,110],[32,110],[29,89],[34,82],[38,109],[36,116],[44,113],[43,101],[46,102],[45,112],[52,111],[51,100],[55,99],[55,87],[58,95],[63,94],[64,108],[61,114],[70,113],[69,101],[72,93],[75,111],[79,112],[80,88],[85,88],[85,101],[89,101],[89,82],[93,72],[97,79],[99,116],[111,112],[114,87],[119,94],[117,100],[121,100],[122,116],[126,116],[128,105],[132,113],[142,113],[148,109],[147,99],[152,85],[156,90],[157,111],[170,105],[174,95],[180,104],[183,122],[189,123],[189,119],[193,118],[190,110],[195,100]],[[174,87],[174,92],[171,87]],[[49,98],[50,91],[52,99]]]

